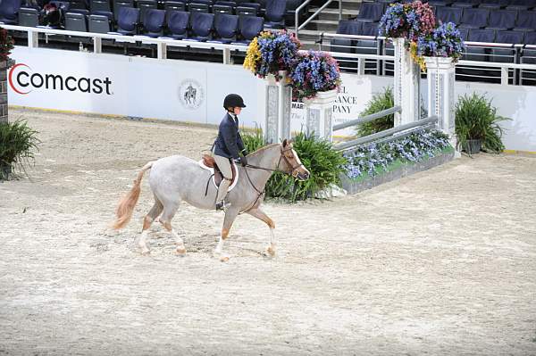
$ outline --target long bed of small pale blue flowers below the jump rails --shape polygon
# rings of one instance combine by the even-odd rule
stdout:
[[[373,177],[387,170],[395,161],[422,161],[448,149],[452,150],[452,147],[446,134],[437,130],[420,130],[398,141],[362,145],[343,155],[348,161],[348,178],[359,179],[367,175]]]

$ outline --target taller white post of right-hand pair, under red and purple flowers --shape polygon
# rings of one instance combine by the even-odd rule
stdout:
[[[393,38],[395,46],[395,105],[402,108],[395,113],[395,127],[421,119],[421,70],[404,46],[404,38]]]

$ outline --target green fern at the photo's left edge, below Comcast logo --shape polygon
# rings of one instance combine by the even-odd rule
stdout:
[[[41,142],[38,131],[29,128],[26,121],[0,123],[0,179],[7,178],[8,168],[34,162],[34,153]]]

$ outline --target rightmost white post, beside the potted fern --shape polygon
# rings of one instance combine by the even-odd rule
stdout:
[[[428,115],[436,115],[438,128],[456,149],[454,103],[455,64],[451,58],[424,57],[428,69]]]

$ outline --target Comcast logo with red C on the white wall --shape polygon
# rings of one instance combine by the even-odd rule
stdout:
[[[105,79],[64,76],[55,73],[41,73],[29,65],[19,63],[9,70],[9,86],[20,95],[34,90],[70,91],[97,95],[112,95],[112,81]]]

